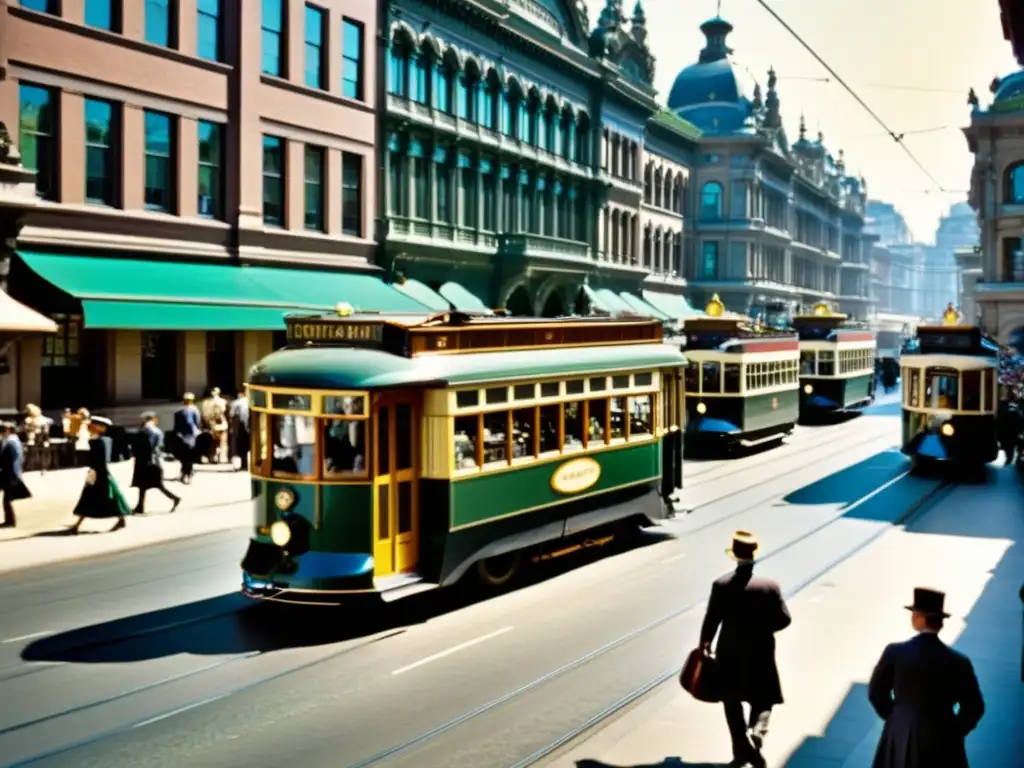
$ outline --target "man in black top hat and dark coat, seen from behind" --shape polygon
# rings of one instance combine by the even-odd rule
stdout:
[[[964,741],[985,701],[971,660],[939,639],[945,598],[913,591],[906,609],[916,637],[887,646],[871,673],[867,697],[886,721],[873,768],[968,768]]]

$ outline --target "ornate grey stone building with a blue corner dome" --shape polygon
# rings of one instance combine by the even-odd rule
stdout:
[[[701,132],[684,259],[694,305],[718,293],[771,322],[823,300],[866,319],[864,180],[803,119],[788,140],[774,71],[762,88],[732,58],[728,22],[700,29],[707,44],[668,99]]]

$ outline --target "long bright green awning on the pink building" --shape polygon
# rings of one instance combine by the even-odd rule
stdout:
[[[47,283],[82,301],[86,328],[284,330],[286,314],[333,309],[423,312],[370,274],[18,251]]]

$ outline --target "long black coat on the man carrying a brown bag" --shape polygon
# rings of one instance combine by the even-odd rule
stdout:
[[[758,579],[750,566],[740,566],[712,584],[700,642],[710,643],[719,633],[715,657],[725,700],[765,707],[782,703],[775,633],[792,621],[778,585]]]

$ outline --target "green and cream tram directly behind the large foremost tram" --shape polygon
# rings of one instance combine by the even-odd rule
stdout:
[[[757,328],[717,294],[705,311],[683,325],[687,447],[781,440],[800,418],[797,334]]]

